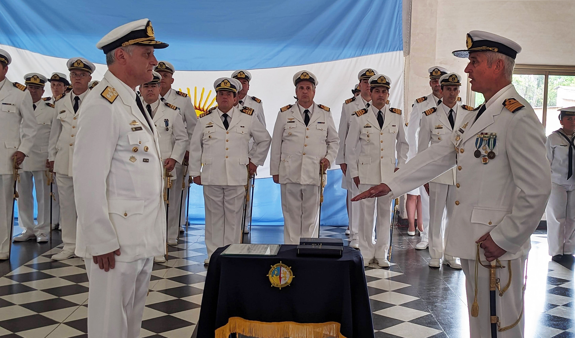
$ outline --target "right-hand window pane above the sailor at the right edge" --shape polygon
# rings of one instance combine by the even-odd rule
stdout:
[[[575,106],[575,76],[550,75],[549,90],[547,91],[547,135],[561,128],[559,112],[565,107]]]

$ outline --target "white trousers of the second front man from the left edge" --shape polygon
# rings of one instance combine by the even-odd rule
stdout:
[[[50,232],[50,186],[43,170],[36,172],[21,172],[18,183],[18,225],[30,234],[39,236]],[[34,197],[38,203],[37,224],[34,223]]]

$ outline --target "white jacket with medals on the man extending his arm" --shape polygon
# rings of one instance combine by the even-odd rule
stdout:
[[[489,232],[507,251],[500,257],[503,261],[529,251],[530,236],[551,191],[551,169],[543,126],[512,84],[497,92],[486,107],[476,122],[478,110],[467,114],[449,137],[417,154],[385,183],[398,197],[456,166],[457,189],[447,197],[454,207],[444,252],[476,259],[475,241]],[[488,143],[493,150],[480,150],[480,158],[474,156],[478,135],[496,136],[497,140],[494,146]],[[485,151],[496,156],[483,158],[488,155]]]

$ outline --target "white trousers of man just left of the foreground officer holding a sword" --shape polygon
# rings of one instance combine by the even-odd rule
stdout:
[[[453,186],[452,186],[453,187]],[[430,257],[437,259],[454,259],[451,256],[443,257],[445,246],[445,227],[449,215],[453,211],[451,204],[447,204],[448,184],[430,182],[430,225],[428,227]]]

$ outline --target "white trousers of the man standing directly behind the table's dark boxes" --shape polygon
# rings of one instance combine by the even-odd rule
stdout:
[[[283,243],[300,244],[300,238],[319,235],[320,186],[281,184]]]

